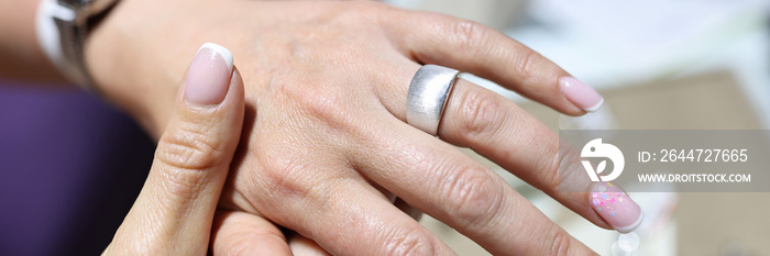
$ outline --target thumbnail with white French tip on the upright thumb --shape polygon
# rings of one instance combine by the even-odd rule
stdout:
[[[185,100],[197,107],[219,104],[230,88],[232,54],[218,44],[206,43],[187,69]]]

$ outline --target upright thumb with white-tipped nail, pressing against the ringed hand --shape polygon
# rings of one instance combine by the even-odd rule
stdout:
[[[243,110],[243,84],[232,55],[219,45],[204,45],[183,81],[147,180],[113,244],[140,255],[207,251]]]

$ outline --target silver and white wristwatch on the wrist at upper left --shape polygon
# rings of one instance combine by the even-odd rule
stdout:
[[[42,0],[37,8],[37,41],[45,55],[70,80],[94,88],[82,44],[118,0]]]

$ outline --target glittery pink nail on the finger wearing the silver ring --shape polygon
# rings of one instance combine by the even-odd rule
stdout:
[[[628,233],[641,224],[645,213],[639,204],[616,185],[596,182],[591,187],[591,208],[616,231]]]

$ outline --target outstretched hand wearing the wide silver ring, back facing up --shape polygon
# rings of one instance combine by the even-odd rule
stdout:
[[[603,219],[588,203],[588,180],[572,182],[584,193],[559,192],[559,166],[582,171],[580,162],[559,157],[558,136],[543,124],[471,82],[459,81],[449,99],[443,142],[405,123],[420,64],[480,75],[566,114],[600,103],[553,63],[476,23],[375,2],[130,0],[94,34],[87,57],[108,98],[160,131],[163,98],[183,69],[173,67],[211,40],[241,56],[246,74],[245,146],[222,205],[332,254],[451,254],[393,204],[396,197],[495,255],[591,253],[447,143],[473,148],[600,226],[640,218],[628,201],[625,219]]]

